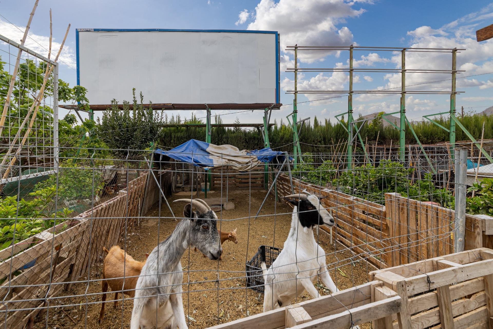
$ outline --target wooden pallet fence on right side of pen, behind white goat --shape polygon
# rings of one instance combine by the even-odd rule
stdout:
[[[271,184],[272,181],[272,175],[269,175]],[[405,198],[398,193],[386,193],[385,206],[382,206],[298,179],[293,178],[292,182],[295,193],[306,189],[325,196],[321,203],[336,219],[336,226],[332,229],[334,238],[377,268],[448,255],[454,251],[453,210]],[[279,176],[277,191],[280,197],[291,194],[287,175]],[[493,232],[493,221],[491,223]],[[484,220],[476,223],[478,227],[481,224],[484,226]],[[329,231],[325,227],[322,229]]]

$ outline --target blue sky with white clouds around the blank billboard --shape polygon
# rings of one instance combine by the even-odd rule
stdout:
[[[0,2],[0,34],[19,39],[33,0]],[[465,5],[465,3],[467,5]],[[458,80],[457,106],[465,110],[481,111],[493,105],[493,39],[476,42],[475,31],[493,23],[493,2],[475,1],[395,1],[395,0],[253,0],[253,1],[127,1],[127,0],[40,0],[31,26],[32,37],[47,45],[49,36],[49,8],[53,10],[55,41],[63,38],[67,25],[71,24],[67,47],[62,60],[68,64],[60,67],[60,77],[75,84],[75,29],[76,28],[163,28],[163,29],[238,29],[275,30],[281,33],[282,45],[350,45],[395,47],[447,47],[467,48],[458,54],[458,69],[464,75],[477,75]],[[243,12],[243,13],[242,13]],[[242,13],[242,14],[241,14]],[[237,23],[237,24],[235,24]],[[45,52],[39,45],[27,45],[38,52]],[[46,46],[47,47],[47,46]],[[55,47],[55,46],[54,46]],[[55,47],[56,48],[56,47]],[[396,68],[398,57],[390,52],[355,52],[354,58],[360,68]],[[450,69],[450,56],[443,54],[413,53],[407,55],[408,68]],[[336,56],[337,55],[337,56]],[[449,54],[446,54],[449,55]],[[283,68],[292,67],[293,56],[281,52]],[[361,58],[361,56],[363,56]],[[300,56],[300,67],[347,67],[348,54],[326,56]],[[290,62],[291,61],[291,62]],[[371,90],[398,86],[398,74],[355,73],[354,89]],[[406,84],[447,79],[447,74],[426,76],[408,74]],[[365,77],[366,76],[366,77]],[[460,75],[459,75],[460,76]],[[293,73],[281,74],[282,87],[292,89]],[[313,73],[299,77],[301,89],[341,90],[348,88],[345,73]],[[417,87],[416,87],[417,88]],[[450,81],[419,86],[420,90],[450,89]],[[281,91],[283,104],[292,103],[292,95]],[[299,95],[298,101],[313,101],[326,95]],[[378,111],[398,110],[398,96],[354,97],[355,115]],[[302,103],[301,117],[333,118],[347,109],[347,97],[329,101]],[[449,96],[408,95],[407,115],[420,119],[423,115],[449,109]],[[292,110],[285,106],[274,117],[284,117]],[[220,112],[224,114],[225,112]],[[170,113],[171,114],[171,113]],[[198,111],[198,116],[204,113]],[[189,112],[182,112],[189,116]],[[225,122],[236,116],[243,121],[261,121],[261,113],[224,115]]]

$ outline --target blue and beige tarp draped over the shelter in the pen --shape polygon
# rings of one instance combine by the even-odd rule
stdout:
[[[158,148],[154,153],[169,156],[205,170],[227,166],[241,172],[251,171],[269,162],[282,163],[285,157],[284,152],[273,151],[269,147],[248,151],[240,150],[232,145],[214,145],[197,140],[190,140],[168,151]]]

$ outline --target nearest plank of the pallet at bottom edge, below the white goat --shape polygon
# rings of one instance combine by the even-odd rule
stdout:
[[[400,306],[401,298],[399,296],[394,296],[385,300],[355,307],[338,314],[312,320],[292,328],[315,329],[330,327],[331,329],[347,329],[368,321],[380,319],[393,313],[397,313],[400,310]]]

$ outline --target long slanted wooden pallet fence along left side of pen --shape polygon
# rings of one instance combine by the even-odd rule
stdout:
[[[171,186],[171,172],[156,175],[162,185]],[[6,278],[0,285],[0,327],[24,328],[47,305],[43,298],[55,297],[73,285],[67,282],[77,281],[97,266],[103,246],[117,244],[125,233],[125,222],[130,228],[139,219],[146,182],[147,173],[112,199],[0,251],[0,278]],[[154,181],[147,188],[143,210],[160,197]]]

